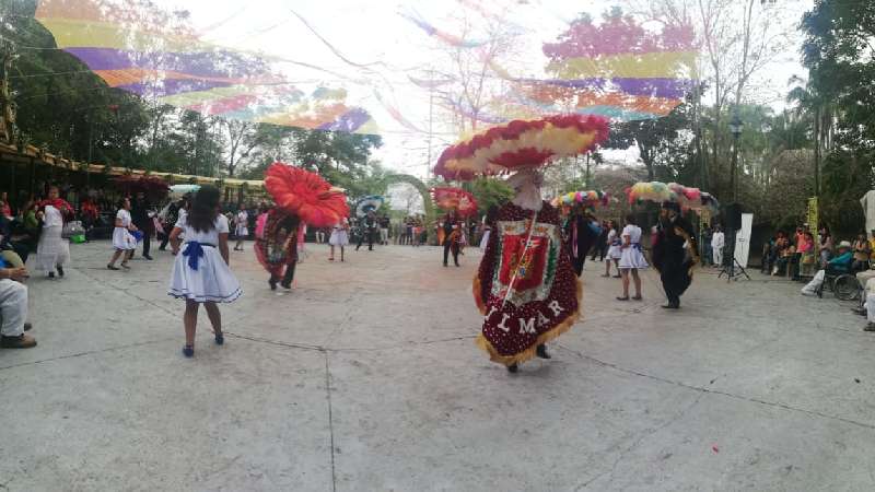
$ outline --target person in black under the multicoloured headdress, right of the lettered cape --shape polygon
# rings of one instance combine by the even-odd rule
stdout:
[[[684,244],[689,244],[689,257]],[[699,247],[692,225],[680,215],[680,207],[674,202],[663,203],[660,224],[653,244],[653,266],[668,297],[666,309],[680,307],[680,296],[692,283],[692,268],[699,261]]]

